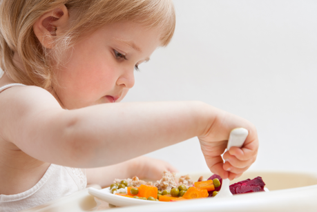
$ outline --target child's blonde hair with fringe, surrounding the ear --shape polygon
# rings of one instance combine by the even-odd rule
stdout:
[[[171,0],[0,0],[0,3],[1,69],[16,82],[45,89],[57,84],[52,60],[58,64],[65,50],[106,23],[134,21],[159,28],[162,46],[169,44],[175,30]],[[32,27],[41,15],[62,5],[71,15],[69,30],[55,40],[55,48],[48,50],[41,46]],[[25,72],[15,65],[15,52],[21,57]]]

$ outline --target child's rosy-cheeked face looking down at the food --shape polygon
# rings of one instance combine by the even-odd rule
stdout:
[[[133,22],[111,23],[80,41],[57,70],[60,104],[74,109],[121,101],[134,70],[160,46],[160,32]]]

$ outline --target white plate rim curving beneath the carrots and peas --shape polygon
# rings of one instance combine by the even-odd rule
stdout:
[[[115,206],[133,206],[133,205],[142,205],[142,204],[169,204],[169,202],[137,200],[135,198],[114,195],[113,193],[110,192],[110,187],[106,189],[89,188],[88,193],[90,193],[90,195],[98,197],[99,199],[104,200]]]

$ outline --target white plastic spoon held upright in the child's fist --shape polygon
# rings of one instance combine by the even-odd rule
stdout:
[[[247,129],[245,128],[234,128],[229,135],[229,140],[228,140],[228,144],[227,144],[227,151],[229,151],[229,149],[232,146],[237,146],[237,147],[242,147],[243,143],[245,141],[245,139],[247,138],[247,136],[249,135],[249,132],[247,131]],[[229,197],[232,196],[232,193],[229,189],[229,185],[230,185],[230,180],[226,179],[226,180],[222,180],[222,186],[221,189],[219,191],[219,193],[217,195],[215,195],[215,197]]]

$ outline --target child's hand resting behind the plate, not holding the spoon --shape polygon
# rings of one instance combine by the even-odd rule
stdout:
[[[151,157],[141,156],[130,160],[130,175],[137,176],[140,179],[160,180],[163,171],[177,173],[178,170],[168,162],[157,160]]]

